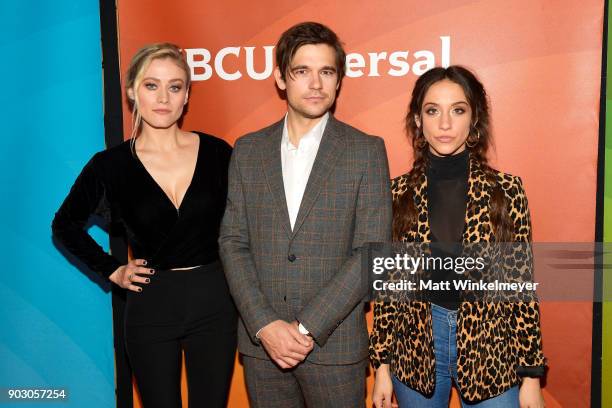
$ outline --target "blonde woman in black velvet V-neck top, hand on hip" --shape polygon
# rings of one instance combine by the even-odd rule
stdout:
[[[190,70],[177,46],[141,48],[125,82],[131,140],[87,163],[55,215],[53,233],[89,268],[127,290],[127,351],[144,406],[181,406],[182,352],[189,405],[225,406],[237,313],[217,238],[231,147],[179,128]],[[100,208],[125,228],[134,257],[126,265],[84,230]]]

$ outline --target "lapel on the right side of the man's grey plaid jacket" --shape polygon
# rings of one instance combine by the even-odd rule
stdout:
[[[308,216],[308,213],[312,209],[321,189],[325,185],[329,174],[336,165],[336,160],[342,152],[342,146],[344,141],[342,139],[342,129],[338,121],[330,114],[323,132],[321,143],[319,144],[319,150],[315,158],[308,183],[306,184],[306,190],[300,203],[300,209],[298,211],[297,219],[293,227],[292,237],[299,231],[300,227],[304,223],[304,220]],[[281,175],[282,177],[282,175]],[[285,204],[285,207],[287,205]]]

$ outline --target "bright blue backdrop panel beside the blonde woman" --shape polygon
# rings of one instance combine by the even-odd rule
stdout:
[[[50,230],[104,148],[98,1],[9,0],[0,16],[0,387],[65,387],[61,406],[113,406],[108,287],[69,262]],[[40,406],[16,404],[28,405]]]

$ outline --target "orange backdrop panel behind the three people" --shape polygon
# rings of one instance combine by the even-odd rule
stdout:
[[[117,7],[122,72],[146,43],[174,42],[198,54],[194,74],[210,78],[193,83],[183,128],[230,143],[286,110],[272,77],[249,76],[245,47],[255,47],[252,68],[265,73],[264,47],[285,29],[305,20],[329,25],[358,54],[336,116],[385,138],[392,176],[411,166],[403,116],[417,75],[432,64],[466,65],[490,95],[493,164],[523,178],[534,240],[594,240],[601,1],[118,0]],[[206,52],[210,69],[202,68]],[[222,71],[242,76],[228,80]],[[588,406],[592,304],[544,303],[542,325],[547,406]],[[371,382],[370,374],[368,395]],[[230,407],[246,401],[237,363]]]

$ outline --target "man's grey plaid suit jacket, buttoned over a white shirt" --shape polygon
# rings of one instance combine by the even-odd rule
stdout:
[[[384,141],[330,116],[293,230],[281,167],[283,120],[240,138],[230,162],[219,237],[241,315],[238,348],[269,358],[257,331],[299,320],[315,339],[308,360],[349,364],[367,357],[361,250],[391,238]]]

